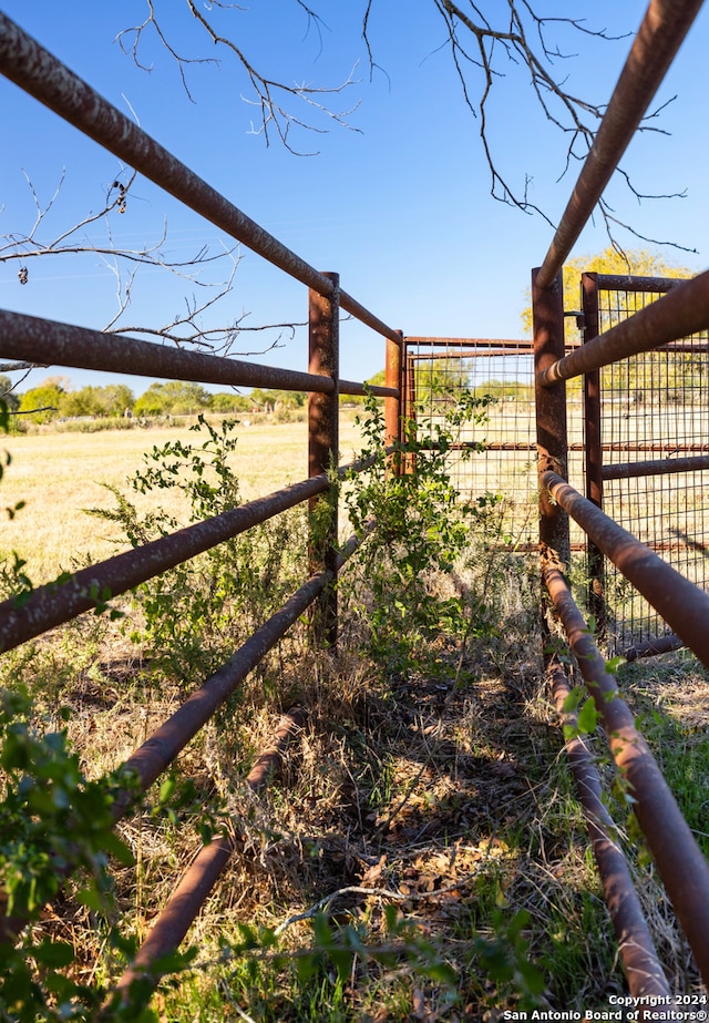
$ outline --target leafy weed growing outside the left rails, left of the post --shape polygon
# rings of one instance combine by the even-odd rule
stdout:
[[[225,420],[217,429],[199,416],[192,430],[202,443],[174,440],[154,447],[130,480],[131,489],[138,494],[181,491],[189,522],[235,508],[240,499],[229,464],[237,442],[234,427]],[[115,508],[90,513],[120,525],[133,546],[178,528],[161,508],[141,514],[117,488],[107,489]],[[305,529],[298,512],[227,540],[137,589],[140,616],[133,618],[131,638],[144,649],[153,673],[183,683],[208,675],[295,589],[304,559]]]

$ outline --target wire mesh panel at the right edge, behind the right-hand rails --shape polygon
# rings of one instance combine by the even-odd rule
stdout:
[[[677,283],[598,275],[598,333]],[[603,509],[703,589],[709,586],[708,377],[706,333],[599,374]],[[608,561],[604,575],[612,647],[623,651],[670,632]]]

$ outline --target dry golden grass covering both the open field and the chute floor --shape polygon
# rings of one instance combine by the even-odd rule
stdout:
[[[28,505],[3,526],[2,545],[28,557],[35,582],[70,566],[78,552],[113,553],[111,524],[81,509],[110,507],[100,484],[122,487],[146,448],[177,436],[191,437],[155,429],[8,438],[3,504]],[[342,460],[357,448],[350,422]],[[244,499],[305,478],[305,424],[239,428],[234,469]],[[294,546],[292,557],[301,553]],[[261,584],[259,565],[246,567],[258,603],[270,583]],[[430,581],[441,602],[459,600],[462,618],[429,635],[405,668],[376,661],[367,645],[367,572],[376,570],[364,563],[351,581],[346,574],[339,652],[314,652],[299,624],[184,750],[175,776],[196,786],[197,805],[178,808],[172,821],[154,812],[152,792],[153,809],[120,825],[136,865],[115,870],[117,909],[138,942],[201,846],[205,808],[218,807],[239,836],[187,938],[198,949],[196,966],[155,1000],[161,1020],[477,1023],[532,998],[532,965],[542,1009],[607,1010],[626,990],[544,679],[534,562],[510,548],[490,550],[471,531],[455,572]],[[188,616],[191,594],[168,596]],[[392,595],[392,613],[400,597]],[[140,632],[140,608],[135,622]],[[183,656],[182,674],[158,671],[144,656],[144,636],[131,642],[133,627],[132,617],[85,615],[2,662],[2,683],[28,685],[48,727],[69,708],[70,736],[94,777],[127,757],[209,671],[199,651],[188,659],[183,634],[167,637]],[[628,665],[618,681],[705,842],[705,673],[672,655]],[[256,800],[243,779],[294,704],[307,725],[282,776]],[[603,757],[603,737],[594,741]],[[602,770],[610,775],[607,758]],[[671,908],[628,831],[627,807],[612,806],[670,983],[698,992]],[[70,943],[82,978],[109,982],[116,964],[72,891],[38,934]],[[296,969],[314,940],[308,914],[323,899],[333,931],[359,942],[347,976],[327,955],[316,956],[309,975]],[[388,907],[399,913],[393,945]],[[244,925],[279,930],[281,958],[234,951]],[[390,945],[392,955],[378,959]]]

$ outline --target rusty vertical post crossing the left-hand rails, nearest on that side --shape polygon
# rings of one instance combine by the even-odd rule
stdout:
[[[339,340],[340,340],[340,278],[339,274],[325,274],[333,284],[329,297],[312,288],[308,293],[309,372],[321,374],[335,380],[331,395],[314,391],[308,396],[308,475],[312,478],[329,472],[339,462]],[[326,586],[315,611],[316,642],[333,647],[337,643],[337,540],[338,492],[331,485],[323,497],[310,500],[310,571],[330,572],[332,582]]]

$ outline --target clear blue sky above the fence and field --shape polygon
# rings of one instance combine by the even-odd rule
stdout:
[[[330,101],[337,109],[359,104],[349,117],[357,131],[332,125],[328,134],[298,134],[296,145],[319,154],[295,156],[277,140],[267,147],[263,137],[250,133],[256,111],[242,99],[249,95],[248,82],[235,62],[225,58],[219,68],[194,65],[188,71],[194,103],[162,47],[146,40],[143,59],[153,70],[134,67],[114,40],[122,29],[143,21],[144,0],[0,0],[4,13],[112,103],[129,114],[133,111],[145,131],[248,216],[318,269],[337,270],[342,287],[391,326],[409,335],[522,336],[520,314],[527,304],[530,273],[542,262],[552,228],[541,217],[490,197],[479,123],[464,104],[449,52],[439,49],[444,33],[433,3],[374,2],[371,41],[386,73],[376,72],[371,82],[359,31],[364,3],[322,0],[311,6],[327,25],[321,33],[312,27],[308,31],[306,16],[294,0],[254,0],[250,9],[229,12],[238,25],[239,44],[266,73],[322,85],[338,84],[350,72],[357,80]],[[156,0],[155,7],[165,14],[176,48],[212,55],[181,0]],[[637,29],[646,3],[599,0],[589,7],[538,0],[537,7],[544,13],[585,17],[590,28],[620,34]],[[623,164],[639,191],[687,190],[687,197],[639,205],[618,184],[608,191],[619,217],[630,219],[640,233],[697,248],[697,254],[664,253],[668,260],[695,270],[709,263],[708,28],[705,8],[656,100],[657,104],[678,95],[658,122],[671,134],[653,132],[636,139]],[[630,39],[598,43],[579,37],[565,39],[563,45],[578,53],[564,63],[569,90],[606,102]],[[496,88],[491,131],[500,165],[520,188],[528,175],[534,201],[557,221],[574,181],[571,175],[558,181],[565,140],[535,112],[520,70],[508,69]],[[32,224],[34,207],[22,170],[41,202],[65,173],[61,195],[40,229],[42,237],[100,208],[106,187],[120,176],[113,156],[4,79],[0,110],[0,234],[23,233]],[[217,252],[229,244],[145,181],[135,184],[125,214],[113,217],[116,241],[126,247],[157,241],[164,218],[166,249],[175,256],[187,257],[203,245]],[[101,234],[93,232],[92,237]],[[629,247],[647,247],[620,237]],[[602,227],[590,225],[574,255],[595,253],[607,244]],[[248,314],[247,325],[306,318],[301,285],[247,249],[240,257],[224,311],[215,311],[213,321],[243,314]],[[28,270],[29,283],[22,286],[18,264],[0,264],[1,307],[96,328],[116,311],[115,278],[95,256],[35,258],[28,262]],[[123,323],[163,323],[195,290],[145,268],[136,277]],[[203,291],[197,290],[201,298]],[[257,348],[258,338],[243,335],[239,348]],[[306,347],[300,330],[285,349],[255,358],[304,369]],[[342,375],[362,379],[382,365],[380,339],[358,324],[345,324]],[[65,372],[75,387],[103,382],[79,370]],[[40,370],[35,379],[45,375]],[[148,382],[136,378],[132,386],[140,393]]]

